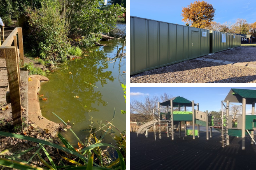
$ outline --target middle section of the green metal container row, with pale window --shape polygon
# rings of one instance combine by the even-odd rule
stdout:
[[[232,34],[210,31],[210,53],[232,48]]]

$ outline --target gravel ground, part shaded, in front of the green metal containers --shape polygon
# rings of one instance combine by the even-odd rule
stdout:
[[[237,47],[204,58],[256,64],[256,48]],[[133,75],[130,83],[256,83],[256,69],[192,59]]]

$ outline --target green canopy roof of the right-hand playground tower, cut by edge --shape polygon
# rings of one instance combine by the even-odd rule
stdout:
[[[246,98],[246,104],[256,102],[256,90],[231,89],[224,101],[229,101],[231,103],[242,103],[243,98]]]

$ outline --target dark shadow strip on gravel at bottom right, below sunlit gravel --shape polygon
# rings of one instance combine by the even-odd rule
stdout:
[[[251,81],[256,80],[256,76],[242,76],[242,77],[232,77],[228,79],[222,79],[217,81],[210,81],[208,83],[249,83]]]

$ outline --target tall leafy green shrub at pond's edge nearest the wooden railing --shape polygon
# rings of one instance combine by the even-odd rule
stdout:
[[[48,62],[67,60],[70,43],[67,42],[68,26],[62,19],[61,6],[57,0],[44,0],[42,8],[26,9],[31,29],[31,44],[38,51],[40,58]]]

